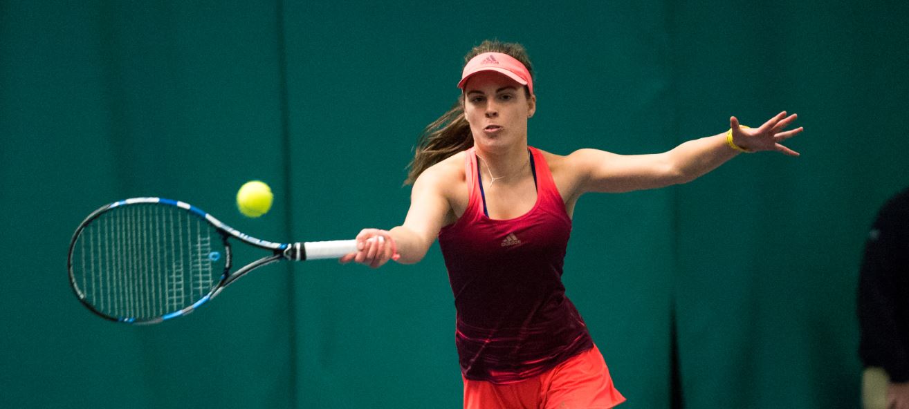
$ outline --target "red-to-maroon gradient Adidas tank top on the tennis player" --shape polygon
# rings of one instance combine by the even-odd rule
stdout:
[[[514,219],[490,219],[474,149],[466,153],[467,208],[439,232],[457,310],[461,371],[472,380],[518,382],[594,345],[562,285],[571,218],[543,154],[530,148],[533,209]]]

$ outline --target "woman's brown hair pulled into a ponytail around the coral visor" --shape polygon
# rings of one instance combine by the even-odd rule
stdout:
[[[502,53],[513,56],[527,67],[531,79],[534,78],[534,68],[524,46],[517,43],[502,43],[498,40],[485,40],[475,46],[470,53],[464,55],[464,64],[483,53]],[[530,90],[524,85],[524,93],[530,97]],[[470,133],[470,124],[464,119],[464,93],[458,97],[451,109],[439,119],[426,125],[416,141],[414,160],[407,166],[405,185],[413,184],[424,170],[436,163],[445,160],[459,151],[464,151],[474,146],[474,136]]]

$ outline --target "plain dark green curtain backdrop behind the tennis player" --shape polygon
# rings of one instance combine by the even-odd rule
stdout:
[[[731,115],[799,113],[801,158],[585,197],[564,281],[623,407],[856,407],[865,229],[909,184],[906,15],[854,0],[0,1],[0,407],[460,407],[437,247],[415,266],[269,266],[158,326],[85,311],[65,253],[85,215],[133,196],[277,241],[400,223],[416,135],[485,38],[529,50],[530,142],[546,151],[666,151]],[[261,219],[235,209],[253,179],[275,190]]]

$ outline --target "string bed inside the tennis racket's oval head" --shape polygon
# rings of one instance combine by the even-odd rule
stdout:
[[[107,316],[151,319],[192,307],[221,280],[217,230],[184,209],[122,206],[88,223],[75,241],[81,297]]]

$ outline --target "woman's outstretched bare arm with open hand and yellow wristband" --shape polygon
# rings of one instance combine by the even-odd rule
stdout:
[[[786,112],[780,112],[760,127],[748,128],[732,117],[729,119],[729,132],[686,141],[664,153],[617,155],[584,149],[575,151],[567,158],[571,168],[579,172],[579,193],[662,188],[697,179],[734,158],[740,151],[778,151],[798,156],[798,152],[781,144],[803,131],[801,127],[784,131],[796,118],[795,114],[787,117]],[[731,144],[728,141],[730,134]]]

